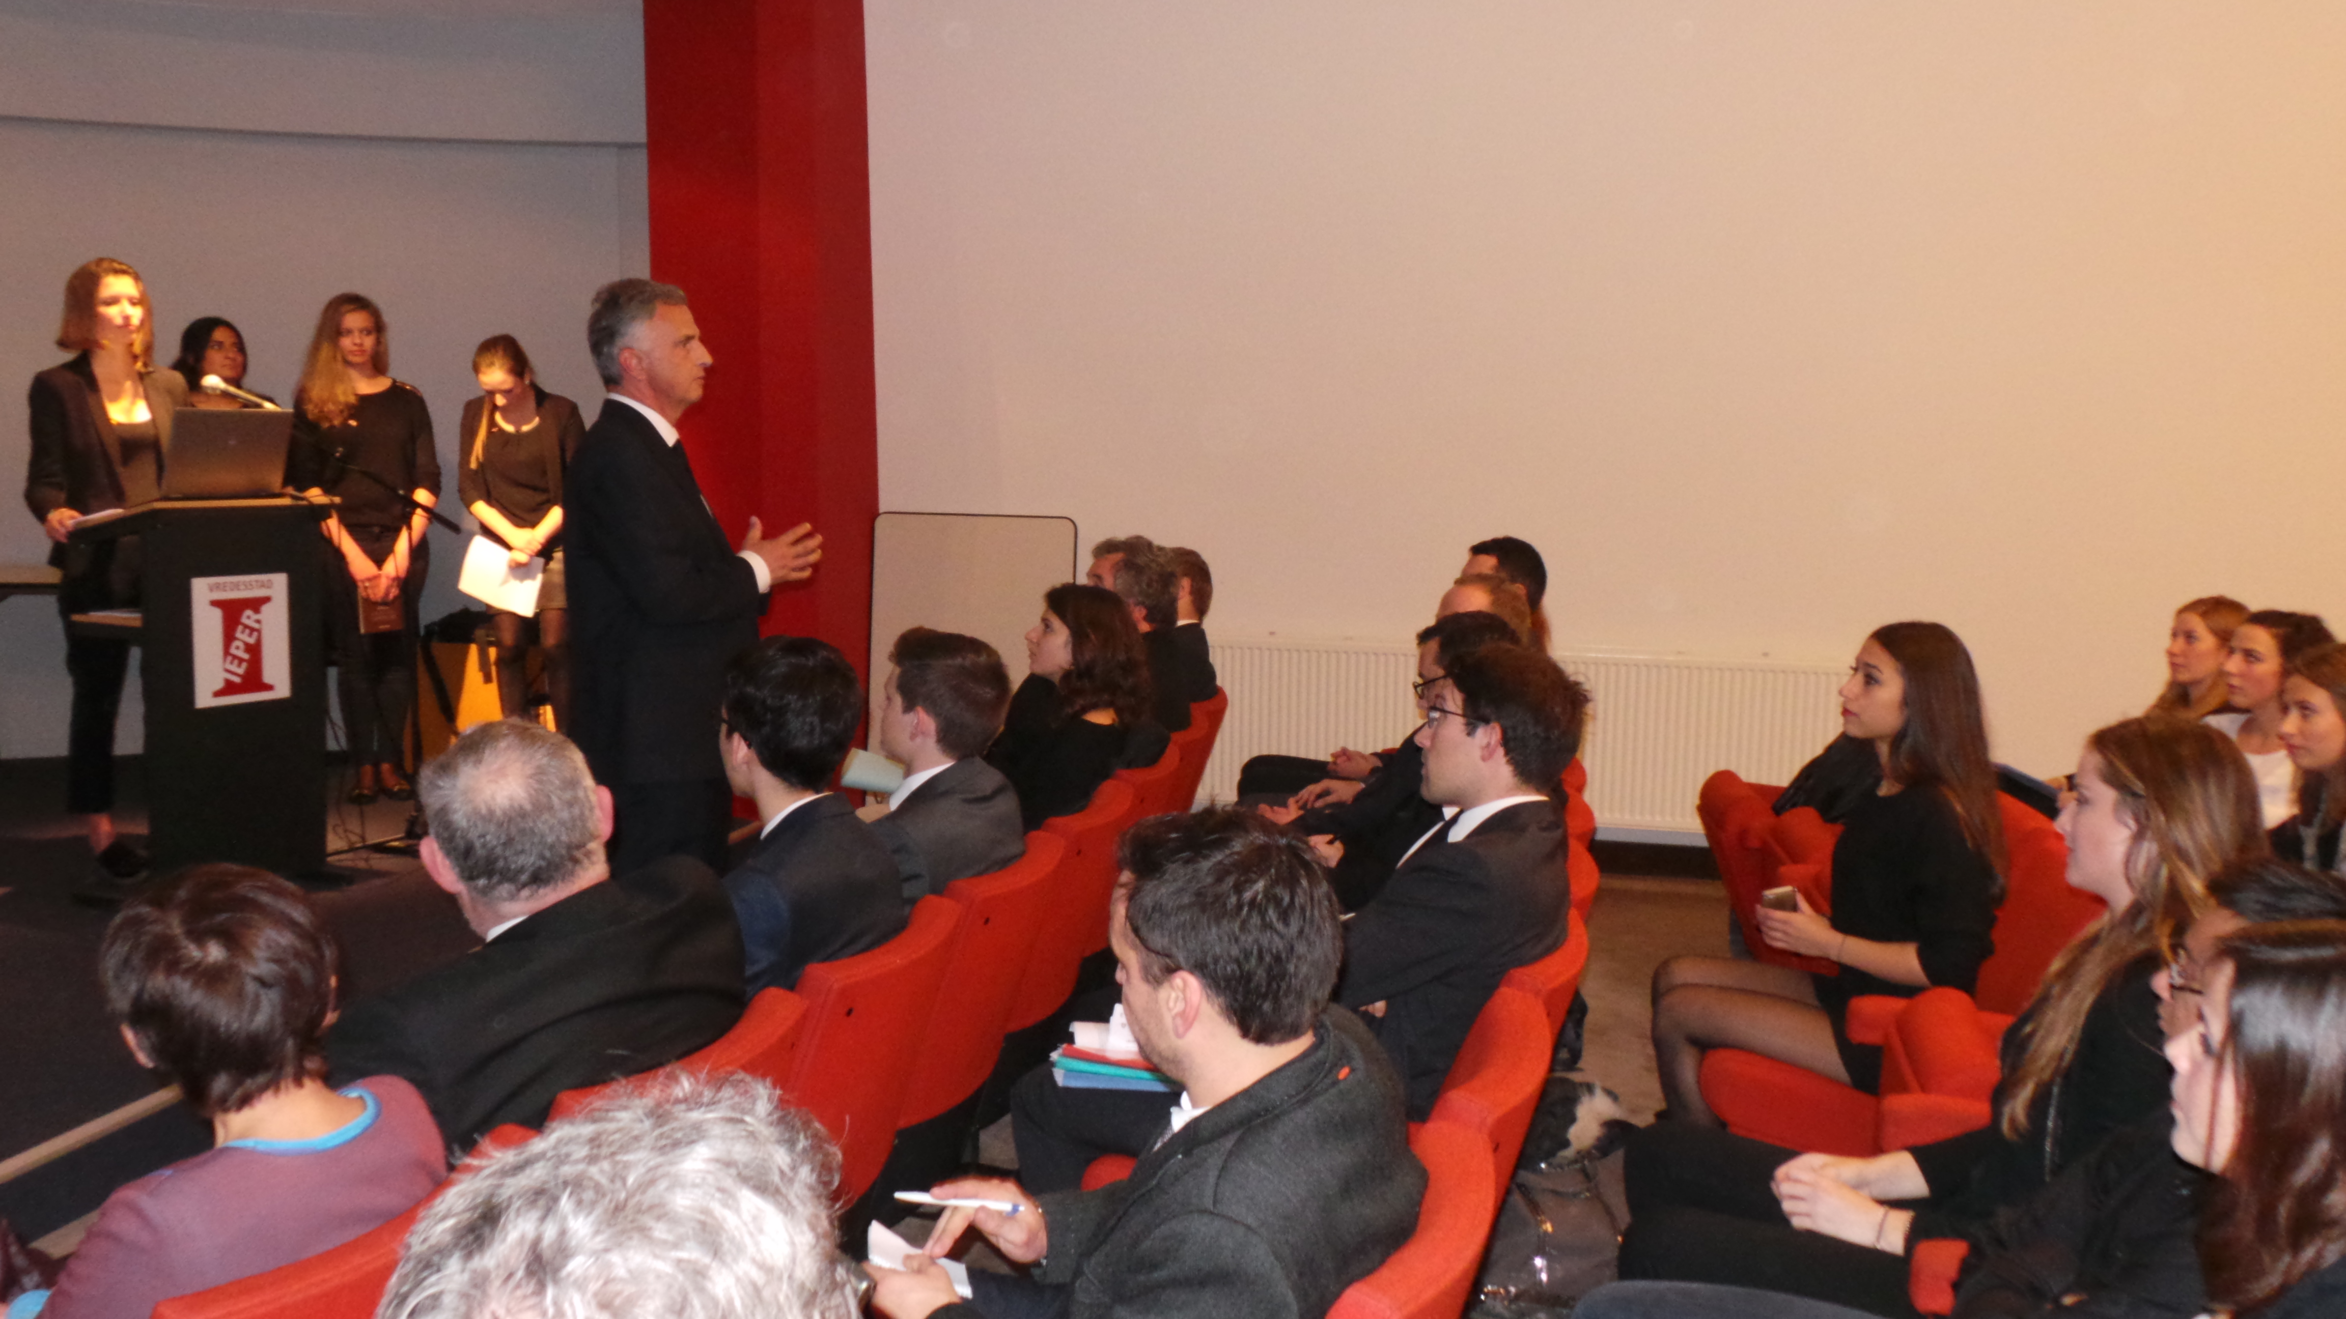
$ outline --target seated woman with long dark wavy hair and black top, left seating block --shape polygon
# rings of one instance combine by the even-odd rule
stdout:
[[[1150,718],[1150,660],[1133,613],[1105,587],[1044,594],[1028,631],[1028,681],[985,760],[1018,789],[1028,828],[1077,814],[1117,770],[1152,765],[1166,730]]]

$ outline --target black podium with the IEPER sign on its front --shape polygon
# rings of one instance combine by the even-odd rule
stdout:
[[[326,864],[326,638],[317,523],[335,500],[171,500],[73,540],[136,535],[143,610],[73,615],[141,648],[155,871]]]

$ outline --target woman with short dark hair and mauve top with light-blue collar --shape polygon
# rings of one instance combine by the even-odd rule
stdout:
[[[446,1176],[415,1087],[326,1087],[335,951],[293,885],[181,871],[115,915],[99,969],[131,1056],[211,1120],[213,1148],[110,1195],[56,1291],[19,1298],[9,1319],[145,1314],[340,1246]]]

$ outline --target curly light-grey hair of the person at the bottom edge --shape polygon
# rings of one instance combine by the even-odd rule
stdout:
[[[662,1073],[476,1159],[375,1319],[852,1319],[838,1169],[774,1087]]]

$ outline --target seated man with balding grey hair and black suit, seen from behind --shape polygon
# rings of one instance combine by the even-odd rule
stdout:
[[[565,1089],[647,1073],[741,1019],[741,936],[708,866],[603,859],[610,789],[558,732],[474,728],[425,760],[425,873],[486,941],[359,997],[326,1037],[335,1084],[406,1077],[457,1148],[540,1127]]]

